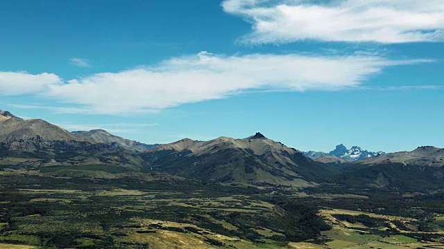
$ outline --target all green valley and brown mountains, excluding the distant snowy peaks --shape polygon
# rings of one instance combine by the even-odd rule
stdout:
[[[323,163],[262,133],[151,146],[3,117],[0,248],[444,247],[442,149]]]

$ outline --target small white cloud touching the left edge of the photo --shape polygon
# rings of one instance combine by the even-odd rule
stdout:
[[[60,82],[62,79],[53,73],[0,72],[0,95],[37,93]]]

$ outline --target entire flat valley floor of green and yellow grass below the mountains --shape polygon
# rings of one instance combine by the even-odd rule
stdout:
[[[0,248],[444,248],[440,193],[324,192],[0,176]]]

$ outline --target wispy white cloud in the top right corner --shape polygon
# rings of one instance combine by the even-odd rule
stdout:
[[[250,22],[252,44],[444,41],[443,0],[225,0],[223,10]]]

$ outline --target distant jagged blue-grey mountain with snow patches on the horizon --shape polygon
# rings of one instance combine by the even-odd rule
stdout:
[[[366,149],[361,149],[361,147],[353,146],[350,149],[347,149],[344,145],[336,145],[336,148],[330,153],[325,153],[322,151],[307,151],[304,152],[305,156],[309,158],[320,158],[321,156],[336,156],[337,158],[345,159],[345,160],[361,160],[364,158],[369,158],[373,156],[378,156],[380,154],[385,154],[382,151],[372,152]]]

